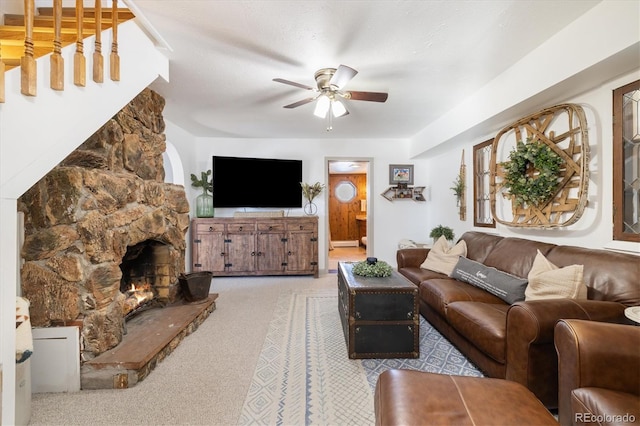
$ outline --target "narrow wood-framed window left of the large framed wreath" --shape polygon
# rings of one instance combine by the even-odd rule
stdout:
[[[489,196],[489,164],[493,139],[473,147],[473,225],[495,228]]]

